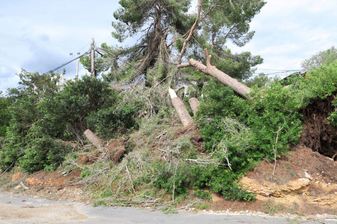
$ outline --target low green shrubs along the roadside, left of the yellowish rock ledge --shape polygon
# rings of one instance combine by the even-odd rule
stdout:
[[[156,179],[154,185],[165,189],[172,196],[185,196],[189,188],[197,191],[197,196],[211,199],[208,191],[201,188],[210,187],[214,193],[220,193],[229,200],[254,200],[254,194],[248,193],[237,184],[238,175],[222,167],[210,165],[202,167],[190,163],[168,169],[167,163],[155,163]]]

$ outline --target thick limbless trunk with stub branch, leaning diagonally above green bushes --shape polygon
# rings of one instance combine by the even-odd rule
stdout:
[[[244,98],[248,97],[250,92],[250,88],[241,82],[237,81],[236,79],[232,78],[231,76],[227,75],[226,73],[220,71],[219,69],[215,68],[215,66],[211,65],[211,57],[208,55],[207,48],[205,48],[207,65],[204,65],[201,62],[197,62],[194,59],[188,60],[188,63],[178,65],[178,68],[184,68],[188,66],[192,66],[196,68],[198,71],[205,73],[206,75],[213,76],[217,80],[219,80],[222,84],[233,88],[235,92],[241,95]]]

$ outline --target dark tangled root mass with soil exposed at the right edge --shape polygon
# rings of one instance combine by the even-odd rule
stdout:
[[[337,160],[337,127],[328,123],[328,117],[335,110],[331,103],[335,100],[336,92],[326,99],[314,98],[302,110],[304,120],[300,144],[313,151]]]

